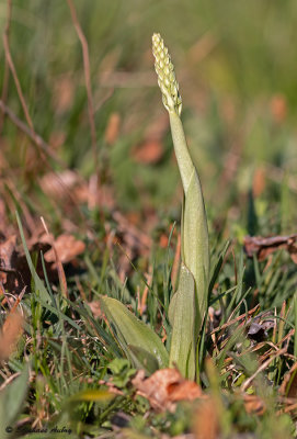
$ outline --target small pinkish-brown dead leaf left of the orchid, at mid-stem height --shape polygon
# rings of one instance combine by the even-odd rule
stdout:
[[[85,244],[82,240],[75,238],[72,235],[60,235],[55,239],[55,249],[61,263],[68,263],[77,256],[81,255],[85,249]],[[47,262],[56,262],[56,257],[53,248],[44,255]]]

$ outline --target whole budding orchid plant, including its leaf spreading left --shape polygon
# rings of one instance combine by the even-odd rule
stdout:
[[[182,99],[168,48],[160,34],[152,36],[152,53],[164,108],[169,113],[174,151],[183,184],[181,267],[176,292],[169,305],[169,352],[158,335],[124,304],[102,297],[101,305],[115,338],[130,361],[152,372],[176,367],[187,379],[198,378],[198,335],[207,311],[209,245],[206,213],[197,170],[181,121]]]

